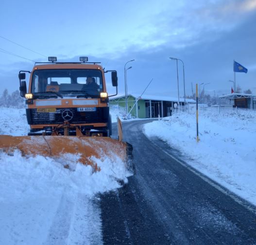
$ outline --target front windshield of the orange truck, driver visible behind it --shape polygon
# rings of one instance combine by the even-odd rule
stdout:
[[[102,72],[93,69],[36,70],[32,77],[32,93],[99,95]]]

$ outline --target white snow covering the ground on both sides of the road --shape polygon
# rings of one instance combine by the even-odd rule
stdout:
[[[0,111],[1,135],[27,134],[24,109]],[[116,122],[119,111],[111,114]],[[200,114],[198,143],[195,122],[194,114],[174,114],[145,124],[144,132],[165,140],[193,168],[256,204],[256,115]],[[72,168],[63,168],[64,158]],[[76,155],[53,159],[15,151],[0,152],[0,160],[0,244],[103,243],[97,193],[119,188],[118,180],[127,183],[129,173],[120,159],[94,158],[102,169],[94,173]]]

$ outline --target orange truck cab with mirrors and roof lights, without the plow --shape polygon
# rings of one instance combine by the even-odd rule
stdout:
[[[117,72],[104,71],[99,62],[88,62],[87,57],[80,57],[80,62],[57,62],[49,57],[49,62],[35,63],[31,72],[20,71],[28,135],[110,136],[108,97],[116,94],[107,93],[107,72],[111,72],[117,94]],[[28,91],[26,73],[30,73]]]

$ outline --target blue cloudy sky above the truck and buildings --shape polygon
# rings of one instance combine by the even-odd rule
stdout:
[[[255,25],[256,0],[1,0],[0,93],[17,90],[18,72],[32,70],[34,61],[88,56],[118,71],[119,94],[125,63],[134,59],[125,67],[132,66],[128,93],[142,93],[153,78],[145,93],[177,96],[176,61],[169,57],[184,62],[186,95],[196,83],[205,93],[230,93],[234,60],[248,69],[236,73],[236,85],[256,94]],[[114,93],[109,77],[107,85]]]

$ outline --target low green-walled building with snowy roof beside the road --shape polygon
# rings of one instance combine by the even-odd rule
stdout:
[[[136,118],[156,118],[171,116],[171,111],[178,106],[178,98],[169,96],[129,94],[128,112]],[[193,99],[186,99],[186,103],[196,103]],[[184,105],[184,98],[180,98],[180,104]],[[125,96],[114,96],[109,98],[110,108],[118,108],[125,111]]]

